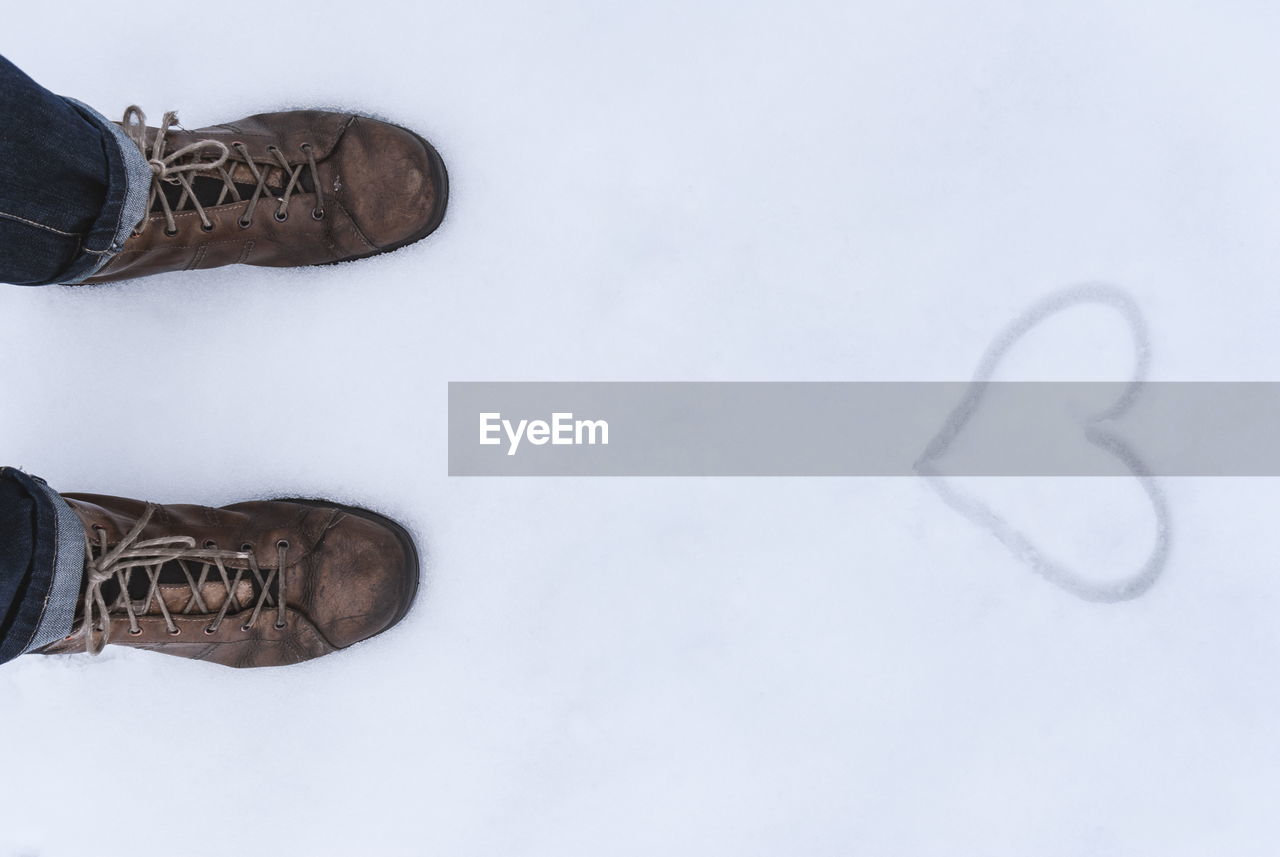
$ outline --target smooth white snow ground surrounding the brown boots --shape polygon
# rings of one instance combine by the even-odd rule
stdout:
[[[315,270],[0,289],[4,460],[61,490],[328,495],[429,555],[284,670],[0,669],[0,854],[1274,854],[1274,480],[1165,480],[1091,604],[923,480],[465,480],[451,380],[961,380],[1071,283],[1153,380],[1276,380],[1262,3],[20,4],[50,88],[187,127],[426,134],[429,240]],[[1079,307],[998,377],[1128,376]],[[988,480],[1098,579],[1123,480]],[[1015,514],[1014,514],[1015,513]]]

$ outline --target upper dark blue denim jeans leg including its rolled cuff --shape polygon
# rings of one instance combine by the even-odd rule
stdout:
[[[0,56],[0,283],[78,283],[118,253],[131,170],[110,123]]]

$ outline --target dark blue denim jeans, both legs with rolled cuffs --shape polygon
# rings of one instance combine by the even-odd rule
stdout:
[[[77,283],[146,206],[137,147],[91,107],[0,56],[0,283]],[[42,480],[0,468],[0,663],[72,629],[84,531]]]

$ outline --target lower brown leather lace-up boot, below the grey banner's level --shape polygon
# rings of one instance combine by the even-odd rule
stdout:
[[[63,498],[84,524],[88,562],[76,629],[42,655],[111,643],[227,666],[296,664],[390,628],[417,590],[413,540],[365,509]]]

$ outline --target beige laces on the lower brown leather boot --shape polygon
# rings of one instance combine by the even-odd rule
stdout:
[[[250,631],[266,606],[275,606],[275,627],[284,627],[285,554],[289,542],[282,540],[275,544],[276,567],[269,569],[269,573],[264,577],[262,570],[257,567],[257,559],[248,545],[244,546],[244,550],[219,550],[212,546],[196,547],[196,540],[189,536],[138,539],[147,522],[155,514],[155,510],[156,507],[148,503],[138,522],[133,524],[133,528],[114,547],[108,544],[106,531],[101,527],[93,527],[97,535],[97,544],[88,537],[84,540],[84,568],[88,586],[84,590],[84,617],[81,627],[73,636],[84,636],[84,650],[88,654],[96,655],[102,651],[102,647],[110,640],[111,617],[118,617],[122,611],[129,619],[129,633],[141,634],[142,627],[138,623],[138,615],[148,614],[152,602],[160,609],[160,615],[164,617],[165,629],[170,634],[182,633],[173,620],[173,611],[165,604],[165,599],[160,592],[160,569],[165,563],[170,562],[177,562],[182,568],[186,577],[186,586],[189,590],[187,604],[178,611],[178,615],[207,615],[211,613],[202,595],[206,583],[220,582],[227,590],[227,599],[223,601],[221,609],[218,610],[214,619],[205,627],[205,633],[216,633],[233,605],[237,613],[244,609],[236,592],[241,582],[248,579],[246,573],[253,576],[259,594],[253,604],[253,611],[241,625],[241,631]],[[200,564],[198,574],[192,573],[188,563]],[[238,567],[233,569],[234,576],[228,572],[228,563]],[[210,576],[215,569],[218,578],[210,581]],[[136,602],[129,596],[129,581],[138,570],[147,576],[148,586],[146,596]],[[119,585],[120,592],[108,605],[102,595],[102,586],[111,579]],[[274,599],[270,595],[273,582],[276,582],[276,596]]]

